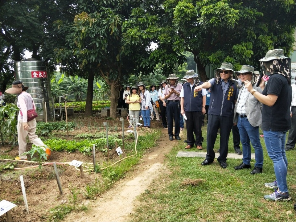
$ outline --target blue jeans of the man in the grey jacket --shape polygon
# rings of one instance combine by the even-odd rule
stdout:
[[[255,150],[255,167],[263,167],[263,149],[259,137],[259,126],[252,126],[247,117],[238,117],[237,128],[240,131],[241,144],[243,145],[243,163],[250,165],[251,145]]]

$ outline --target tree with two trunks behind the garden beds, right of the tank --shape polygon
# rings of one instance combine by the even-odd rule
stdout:
[[[70,59],[77,60],[79,67],[87,70],[85,115],[92,115],[93,80],[99,75],[110,86],[110,117],[116,118],[119,86],[130,74],[148,74],[155,66],[149,58],[149,39],[134,39],[125,44],[122,41],[125,21],[141,1],[78,0],[76,3],[79,14],[75,19],[71,23],[56,23],[56,30],[66,39],[65,46],[56,49],[56,57],[66,66]]]

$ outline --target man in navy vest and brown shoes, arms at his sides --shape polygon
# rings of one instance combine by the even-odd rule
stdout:
[[[206,112],[207,91],[205,89],[202,89],[201,92],[194,91],[195,86],[203,84],[199,81],[194,70],[187,71],[184,79],[187,80],[187,83],[183,84],[181,89],[180,104],[181,114],[185,114],[187,117],[187,120],[185,120],[187,129],[187,146],[185,149],[190,149],[195,144],[198,150],[202,150],[201,125],[203,114]]]

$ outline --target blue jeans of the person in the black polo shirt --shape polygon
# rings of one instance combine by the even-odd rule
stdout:
[[[263,131],[267,153],[273,162],[275,177],[280,192],[288,192],[287,168],[288,161],[285,151],[287,131]]]

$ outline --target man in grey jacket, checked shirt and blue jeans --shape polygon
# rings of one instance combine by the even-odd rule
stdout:
[[[241,78],[241,82],[249,81],[253,84],[256,92],[262,93],[260,87],[255,86],[254,68],[253,66],[243,65],[241,70],[235,72]],[[253,94],[254,92],[252,92]],[[263,167],[263,149],[259,137],[259,125],[261,125],[261,103],[248,92],[243,84],[239,90],[237,102],[234,108],[234,125],[240,131],[241,144],[243,146],[243,162],[234,167],[236,170],[251,168],[251,145],[255,150],[255,167],[250,174],[262,173]]]

